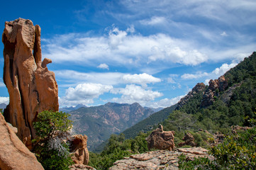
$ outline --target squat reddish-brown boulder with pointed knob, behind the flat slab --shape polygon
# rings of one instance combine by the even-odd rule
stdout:
[[[146,138],[148,142],[148,149],[162,149],[173,150],[174,145],[174,131],[164,131],[162,125]]]

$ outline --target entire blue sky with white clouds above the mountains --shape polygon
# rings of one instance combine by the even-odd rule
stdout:
[[[172,106],[256,50],[254,0],[3,1],[0,13],[0,30],[16,18],[42,28],[60,107]],[[0,103],[8,96],[1,78]]]

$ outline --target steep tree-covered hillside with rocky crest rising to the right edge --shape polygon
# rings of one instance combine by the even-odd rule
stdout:
[[[231,125],[248,125],[255,118],[256,52],[192,96],[185,96],[165,120],[166,130],[227,132]]]

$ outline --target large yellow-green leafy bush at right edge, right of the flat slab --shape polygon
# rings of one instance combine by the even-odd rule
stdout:
[[[210,153],[226,169],[256,169],[256,128],[227,136]]]

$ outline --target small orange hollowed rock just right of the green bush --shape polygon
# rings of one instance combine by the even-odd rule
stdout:
[[[74,154],[72,160],[74,164],[89,163],[89,152],[87,149],[87,135],[74,135],[72,136],[70,153]]]

